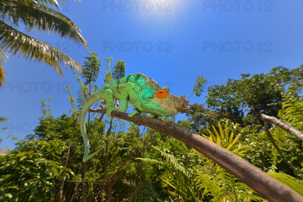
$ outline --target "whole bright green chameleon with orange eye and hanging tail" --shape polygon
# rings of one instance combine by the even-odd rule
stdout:
[[[79,125],[84,141],[84,156],[82,162],[86,162],[95,156],[99,151],[89,154],[89,141],[85,128],[85,115],[90,106],[98,100],[104,100],[106,104],[106,114],[112,118],[111,113],[117,110],[114,100],[120,100],[119,110],[126,111],[128,103],[135,107],[128,116],[135,114],[149,113],[155,116],[173,116],[186,113],[190,110],[189,100],[185,96],[175,96],[143,74],[135,73],[115,80],[92,94],[83,104],[79,114]]]

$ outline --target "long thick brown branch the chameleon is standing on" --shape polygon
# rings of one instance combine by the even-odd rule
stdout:
[[[90,112],[105,114],[106,109],[90,109]],[[118,111],[112,111],[111,116],[133,122],[139,126],[144,125],[173,136],[219,164],[269,201],[303,201],[303,196],[263,173],[259,168],[214,142],[180,127],[176,123],[162,122],[156,118],[140,115],[134,115],[130,118],[128,114]]]

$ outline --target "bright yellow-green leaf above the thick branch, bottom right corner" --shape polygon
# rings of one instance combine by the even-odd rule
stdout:
[[[303,181],[298,180],[294,177],[291,177],[289,175],[286,175],[284,173],[275,173],[275,172],[269,172],[267,173],[271,177],[275,178],[276,180],[282,182],[289,188],[295,190],[299,194],[303,195]]]

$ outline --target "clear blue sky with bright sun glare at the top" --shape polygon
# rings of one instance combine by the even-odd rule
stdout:
[[[126,63],[126,75],[140,72],[169,86],[176,95],[192,93],[197,76],[206,85],[220,84],[240,73],[267,73],[273,67],[303,64],[302,1],[66,1],[61,12],[82,30],[89,49],[52,33],[30,32],[80,64],[88,51]],[[22,30],[22,25],[20,26]],[[0,148],[14,148],[8,132],[23,139],[38,124],[40,99],[53,96],[55,116],[69,113],[66,86],[76,96],[79,85],[70,68],[65,78],[52,67],[10,56],[0,89]],[[189,98],[204,103],[205,95]],[[178,115],[177,119],[184,118]]]

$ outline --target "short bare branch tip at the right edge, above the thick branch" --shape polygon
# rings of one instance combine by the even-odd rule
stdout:
[[[271,116],[268,116],[265,114],[261,114],[261,118],[263,119],[264,122],[270,122],[270,123],[276,124],[283,130],[289,132],[292,136],[295,136],[303,141],[303,132],[299,131],[295,127],[292,127],[292,126],[284,123],[283,121],[277,119],[276,117],[271,117]]]

